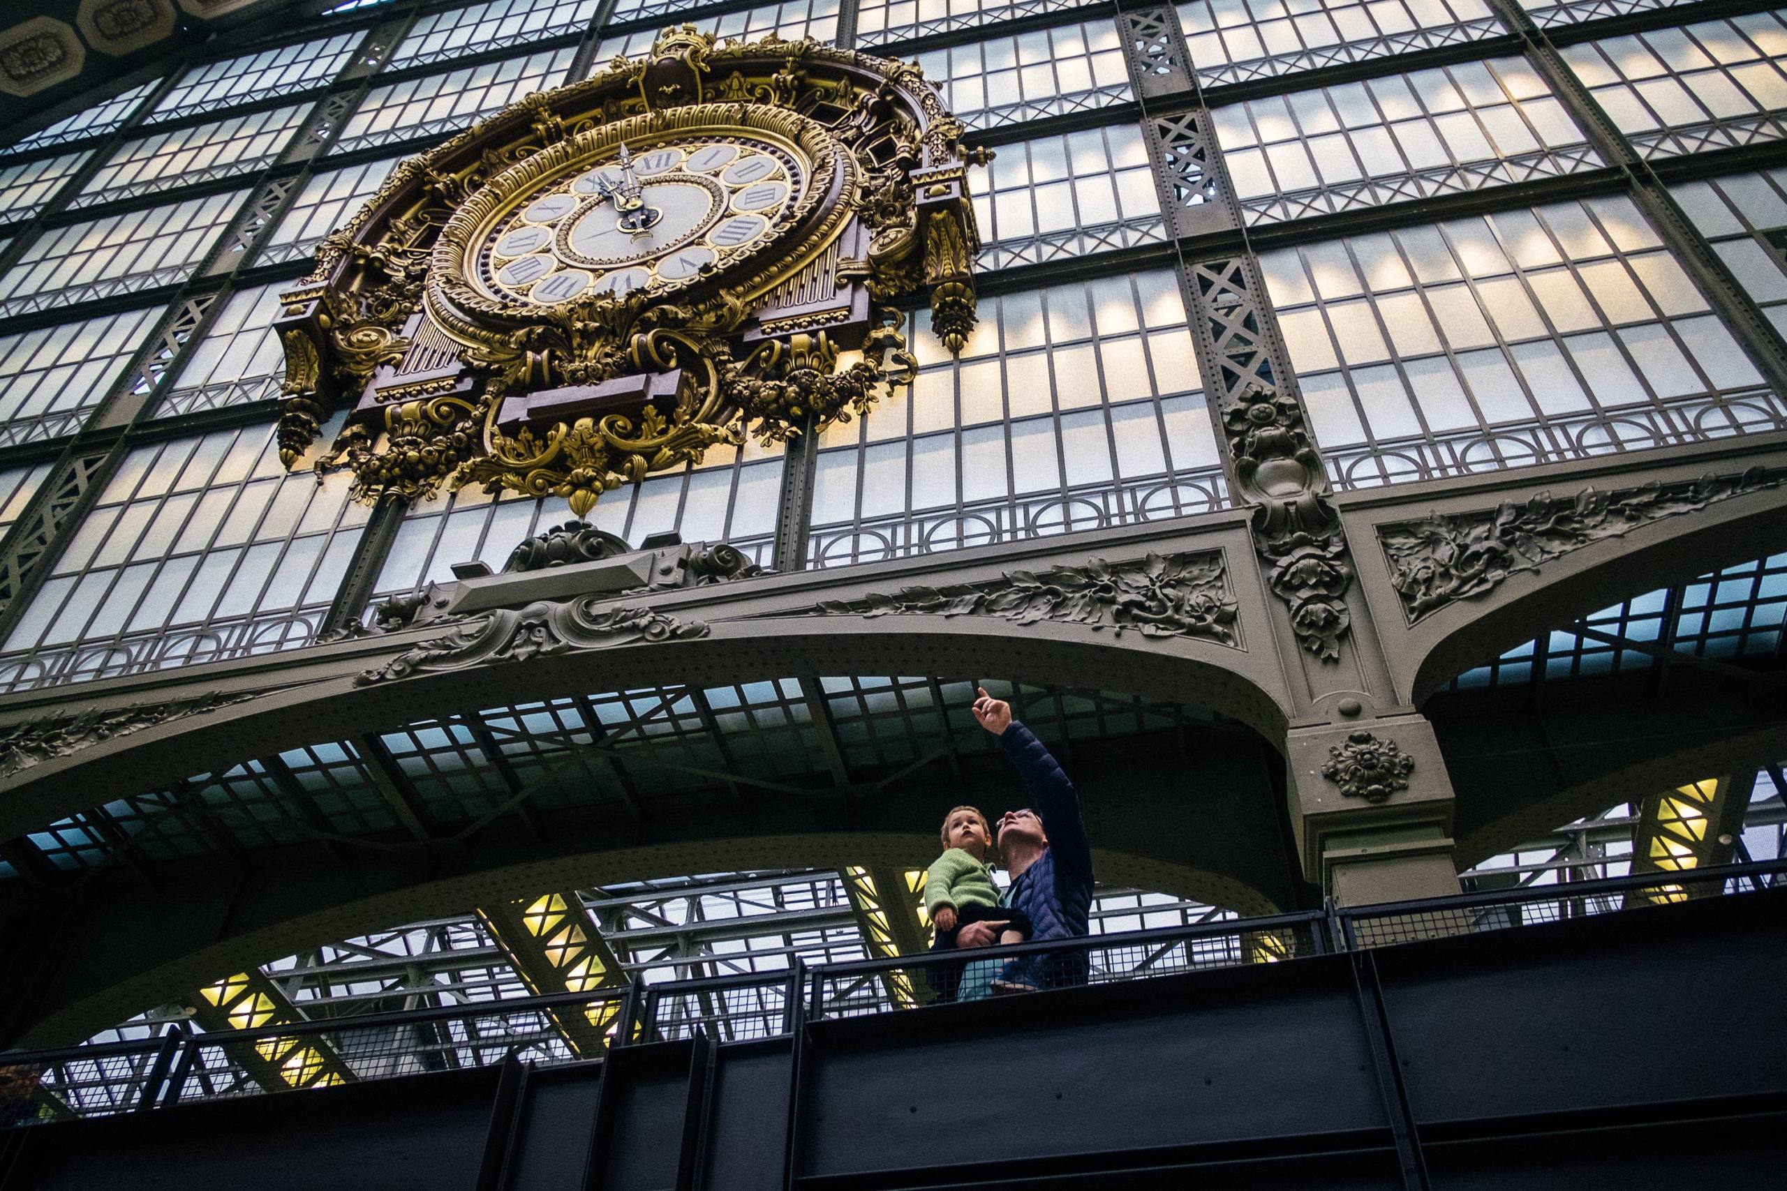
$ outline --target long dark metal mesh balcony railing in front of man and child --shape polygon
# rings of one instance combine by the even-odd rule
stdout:
[[[1026,943],[938,959],[901,955],[600,993],[477,1002],[295,1021],[252,1030],[172,1032],[129,1043],[0,1054],[0,1127],[143,1112],[195,1100],[495,1066],[599,1059],[608,1046],[784,1037],[808,1025],[924,1011],[986,995],[994,980],[1040,995],[1185,977],[1244,964],[1363,952],[1421,939],[1519,930],[1699,898],[1787,887],[1787,861],[1644,873],[1424,902],[1242,918]],[[945,954],[949,955],[949,954]]]

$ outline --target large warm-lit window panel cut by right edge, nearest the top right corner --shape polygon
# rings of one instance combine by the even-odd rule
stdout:
[[[1755,12],[1562,50],[1644,157],[1774,141],[1787,134],[1787,25]]]

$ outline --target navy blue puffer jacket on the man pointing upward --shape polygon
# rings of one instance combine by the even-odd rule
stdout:
[[[1092,911],[1092,845],[1086,841],[1085,820],[1079,818],[1079,795],[1035,732],[1017,720],[999,743],[1029,787],[1031,809],[1042,818],[1042,830],[1049,836],[1049,846],[1036,862],[1011,882],[1006,905],[1029,914],[1033,943],[1083,937]],[[1076,950],[1047,957],[1040,975],[1049,987],[1085,984],[1086,954]]]

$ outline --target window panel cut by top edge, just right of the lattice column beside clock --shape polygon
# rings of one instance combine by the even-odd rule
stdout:
[[[1204,86],[1431,50],[1503,32],[1483,0],[1196,0],[1179,27]]]

